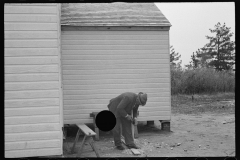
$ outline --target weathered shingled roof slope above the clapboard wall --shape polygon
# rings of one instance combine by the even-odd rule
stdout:
[[[63,3],[61,25],[171,26],[154,3]]]

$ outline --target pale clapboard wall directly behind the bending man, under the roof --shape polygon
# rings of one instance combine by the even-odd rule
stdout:
[[[148,94],[140,121],[170,120],[169,31],[62,30],[61,41],[65,124],[92,123],[128,91]]]

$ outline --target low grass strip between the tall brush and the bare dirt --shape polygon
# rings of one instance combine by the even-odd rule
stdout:
[[[235,113],[235,93],[172,95],[172,113]]]

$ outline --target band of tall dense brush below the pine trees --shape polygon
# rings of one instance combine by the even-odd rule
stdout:
[[[180,70],[171,68],[171,94],[234,92],[235,74],[212,68]]]

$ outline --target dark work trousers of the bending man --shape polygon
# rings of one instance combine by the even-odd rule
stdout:
[[[121,133],[125,138],[126,145],[134,144],[131,121],[127,120],[124,117],[116,118],[116,120],[116,126],[112,130],[115,146],[120,146],[122,144]],[[122,125],[122,131],[120,125]]]

